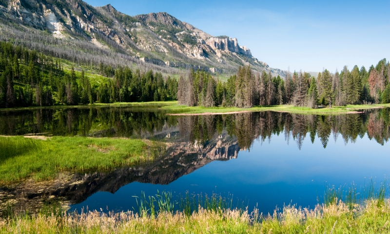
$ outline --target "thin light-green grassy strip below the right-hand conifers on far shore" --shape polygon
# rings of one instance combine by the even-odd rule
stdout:
[[[220,114],[230,112],[259,112],[259,111],[277,111],[277,112],[289,112],[297,114],[347,114],[355,113],[359,110],[368,110],[374,108],[390,107],[390,104],[373,104],[373,105],[347,105],[332,108],[318,108],[312,109],[309,107],[296,107],[293,105],[278,105],[278,106],[256,106],[252,108],[237,108],[237,107],[201,107],[201,106],[181,106],[181,105],[169,105],[163,106],[161,109],[166,110],[173,114]]]

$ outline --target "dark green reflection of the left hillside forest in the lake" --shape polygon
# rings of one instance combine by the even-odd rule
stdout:
[[[177,124],[162,112],[133,108],[2,111],[0,119],[1,135],[146,138]]]

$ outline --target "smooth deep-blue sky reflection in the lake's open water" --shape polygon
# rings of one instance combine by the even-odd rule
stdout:
[[[140,191],[155,195],[157,190],[165,190],[172,191],[174,197],[186,191],[233,194],[234,200],[245,200],[250,211],[257,206],[267,214],[283,204],[314,207],[317,197],[323,199],[325,184],[348,187],[354,182],[359,188],[371,177],[380,183],[390,175],[390,145],[386,142],[378,144],[365,134],[354,143],[346,143],[341,135],[335,141],[330,134],[324,148],[318,136],[312,144],[310,133],[305,134],[301,149],[296,137],[290,137],[287,144],[284,132],[272,135],[271,140],[257,138],[250,151],[240,151],[237,158],[212,161],[168,185],[133,182],[115,194],[98,192],[72,209],[80,211],[88,206],[89,210],[133,210],[137,205],[132,196],[139,196]]]

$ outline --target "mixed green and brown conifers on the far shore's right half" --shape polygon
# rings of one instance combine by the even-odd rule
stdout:
[[[317,108],[347,104],[390,103],[390,63],[382,59],[367,71],[345,66],[341,73],[328,70],[317,78],[306,72],[287,73],[286,78],[271,72],[254,72],[250,66],[240,67],[227,82],[210,74],[192,70],[179,79],[177,98],[188,106],[252,107],[293,104]]]

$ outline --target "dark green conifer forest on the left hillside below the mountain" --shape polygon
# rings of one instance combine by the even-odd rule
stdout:
[[[101,64],[99,70],[113,78],[91,84],[83,70],[65,71],[57,59],[0,42],[0,108],[176,99],[175,78],[127,66]]]

